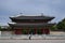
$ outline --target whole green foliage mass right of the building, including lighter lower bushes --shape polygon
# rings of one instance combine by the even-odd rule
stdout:
[[[51,30],[65,31],[65,18],[58,22],[58,24],[56,24],[55,26],[52,26]]]

